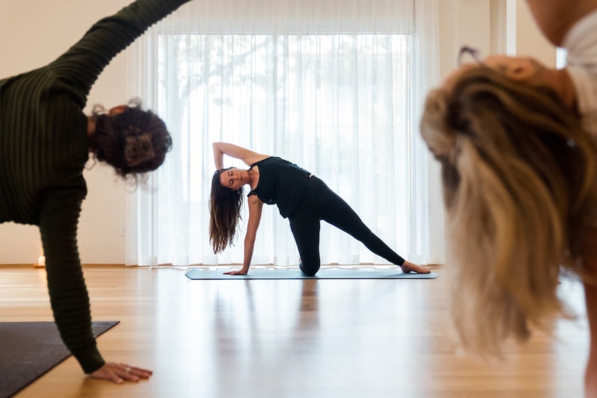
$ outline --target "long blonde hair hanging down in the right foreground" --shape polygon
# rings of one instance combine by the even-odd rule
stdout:
[[[452,314],[464,347],[499,354],[531,326],[551,330],[556,316],[571,315],[556,291],[560,265],[582,273],[593,139],[553,91],[484,66],[463,72],[449,93],[431,91],[420,127],[442,165],[447,263],[457,269]]]

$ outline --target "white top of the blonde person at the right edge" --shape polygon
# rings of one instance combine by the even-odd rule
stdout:
[[[566,70],[576,89],[580,116],[586,127],[597,127],[592,121],[597,120],[597,10],[582,17],[568,31],[562,47],[568,52]]]

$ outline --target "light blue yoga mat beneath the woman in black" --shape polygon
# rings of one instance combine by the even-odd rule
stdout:
[[[233,271],[233,269],[231,269]],[[307,276],[299,269],[250,269],[247,275],[223,275],[217,271],[192,268],[185,275],[189,279],[434,279],[437,273],[404,273],[400,269],[320,269],[317,275]]]

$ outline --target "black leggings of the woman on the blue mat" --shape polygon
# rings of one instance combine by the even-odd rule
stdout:
[[[313,176],[305,197],[299,206],[288,216],[290,229],[301,255],[301,271],[313,276],[319,271],[319,220],[352,235],[371,250],[396,265],[404,264],[404,259],[377,237],[360,219],[348,203],[330,190],[326,183]]]

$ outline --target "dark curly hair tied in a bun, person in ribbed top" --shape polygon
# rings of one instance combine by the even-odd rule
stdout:
[[[121,114],[109,115],[100,105],[92,114],[96,129],[89,137],[89,149],[120,177],[136,180],[137,174],[156,170],[172,148],[166,124],[152,111],[143,110],[140,100],[131,100]]]

